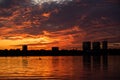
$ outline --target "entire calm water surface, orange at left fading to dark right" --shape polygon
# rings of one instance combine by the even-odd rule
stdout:
[[[0,79],[120,80],[120,56],[0,57]]]

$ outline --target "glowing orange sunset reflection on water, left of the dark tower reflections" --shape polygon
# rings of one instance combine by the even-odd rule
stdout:
[[[39,76],[39,77],[72,77],[75,75],[75,68],[80,64],[74,63],[73,57],[2,57],[0,58],[1,76]],[[75,67],[76,66],[76,67]]]

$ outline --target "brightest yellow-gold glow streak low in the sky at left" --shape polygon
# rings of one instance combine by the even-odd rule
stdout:
[[[21,48],[22,45],[39,45],[43,46],[45,44],[49,44],[53,42],[53,40],[49,37],[43,36],[39,38],[23,38],[18,40],[0,40],[0,49],[16,49]],[[40,45],[41,44],[41,45]]]

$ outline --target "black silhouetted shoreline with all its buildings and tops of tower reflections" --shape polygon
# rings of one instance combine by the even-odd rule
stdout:
[[[51,50],[28,50],[27,45],[22,45],[20,49],[0,50],[0,56],[84,56],[83,61],[88,62],[90,56],[93,56],[93,60],[99,63],[101,55],[105,56],[103,59],[104,64],[107,63],[106,56],[108,55],[120,55],[120,49],[108,49],[108,42],[83,42],[83,50],[59,50],[59,47],[52,47]],[[54,54],[55,53],[55,54]],[[57,54],[56,54],[57,53]],[[98,59],[96,59],[96,57]],[[91,62],[91,61],[90,61]],[[96,63],[96,62],[94,62]]]

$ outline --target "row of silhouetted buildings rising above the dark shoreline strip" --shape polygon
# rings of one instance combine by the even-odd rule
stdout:
[[[115,49],[115,48],[108,48],[108,41],[97,41],[97,42],[91,42],[86,41],[82,42],[82,46],[80,46],[82,49],[79,48],[71,48],[71,49],[61,49],[59,46],[52,46],[52,51],[59,51],[59,50],[81,50],[81,51],[91,51],[91,50],[108,50],[108,49]],[[120,49],[120,48],[118,48]],[[29,50],[35,50],[35,49],[29,49],[29,45],[21,45],[21,48],[15,48],[15,49],[5,49],[5,50],[22,50],[22,51],[29,51]],[[36,49],[36,50],[47,50],[47,49]]]

